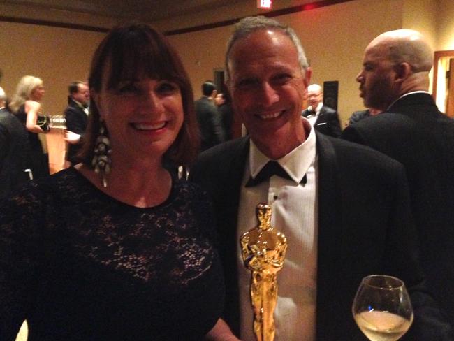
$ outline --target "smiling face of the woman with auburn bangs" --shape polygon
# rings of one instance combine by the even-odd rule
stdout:
[[[143,75],[109,88],[109,69],[104,68],[101,91],[93,98],[108,129],[112,158],[161,158],[183,124],[180,87]]]

